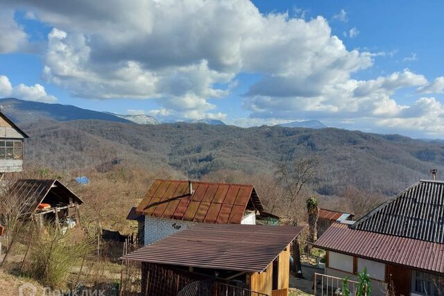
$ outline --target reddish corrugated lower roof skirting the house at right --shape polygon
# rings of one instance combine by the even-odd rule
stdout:
[[[315,245],[375,261],[444,273],[444,245],[441,243],[355,230],[333,223]]]

